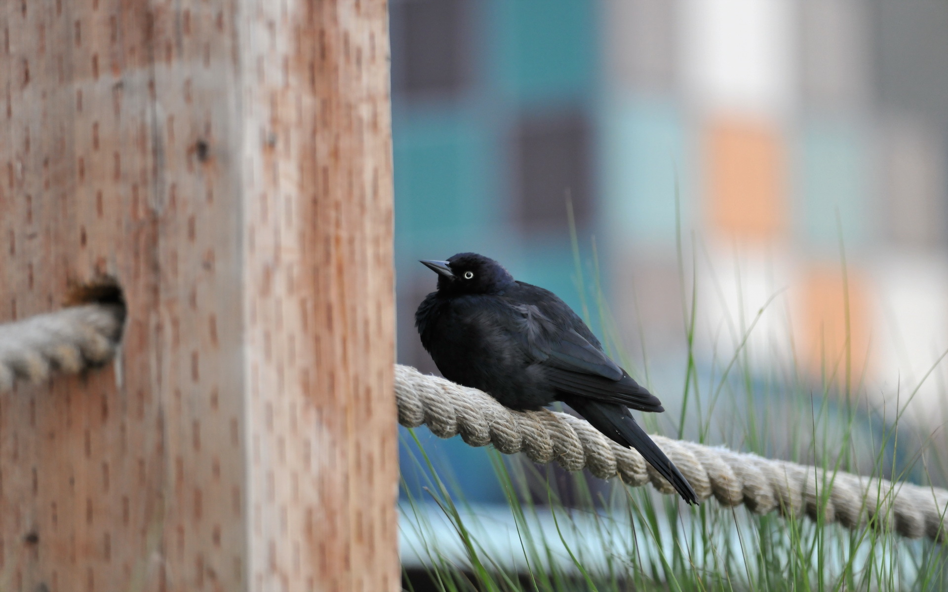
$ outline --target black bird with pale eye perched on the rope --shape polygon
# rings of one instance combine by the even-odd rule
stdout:
[[[415,327],[445,378],[511,409],[562,401],[612,440],[638,450],[684,501],[698,503],[629,413],[628,407],[665,411],[662,403],[612,362],[565,302],[477,253],[421,262],[438,273],[438,290],[418,307]]]

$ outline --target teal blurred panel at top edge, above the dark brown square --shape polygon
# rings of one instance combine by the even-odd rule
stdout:
[[[495,0],[494,71],[521,99],[576,97],[595,79],[596,3],[591,0]]]

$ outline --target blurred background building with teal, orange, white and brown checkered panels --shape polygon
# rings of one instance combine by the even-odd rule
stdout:
[[[869,405],[948,348],[943,0],[392,0],[391,30],[401,363],[436,371],[417,260],[460,251],[585,303],[672,404],[692,297],[699,364],[749,335],[749,368]],[[909,410],[928,431],[945,376]]]

